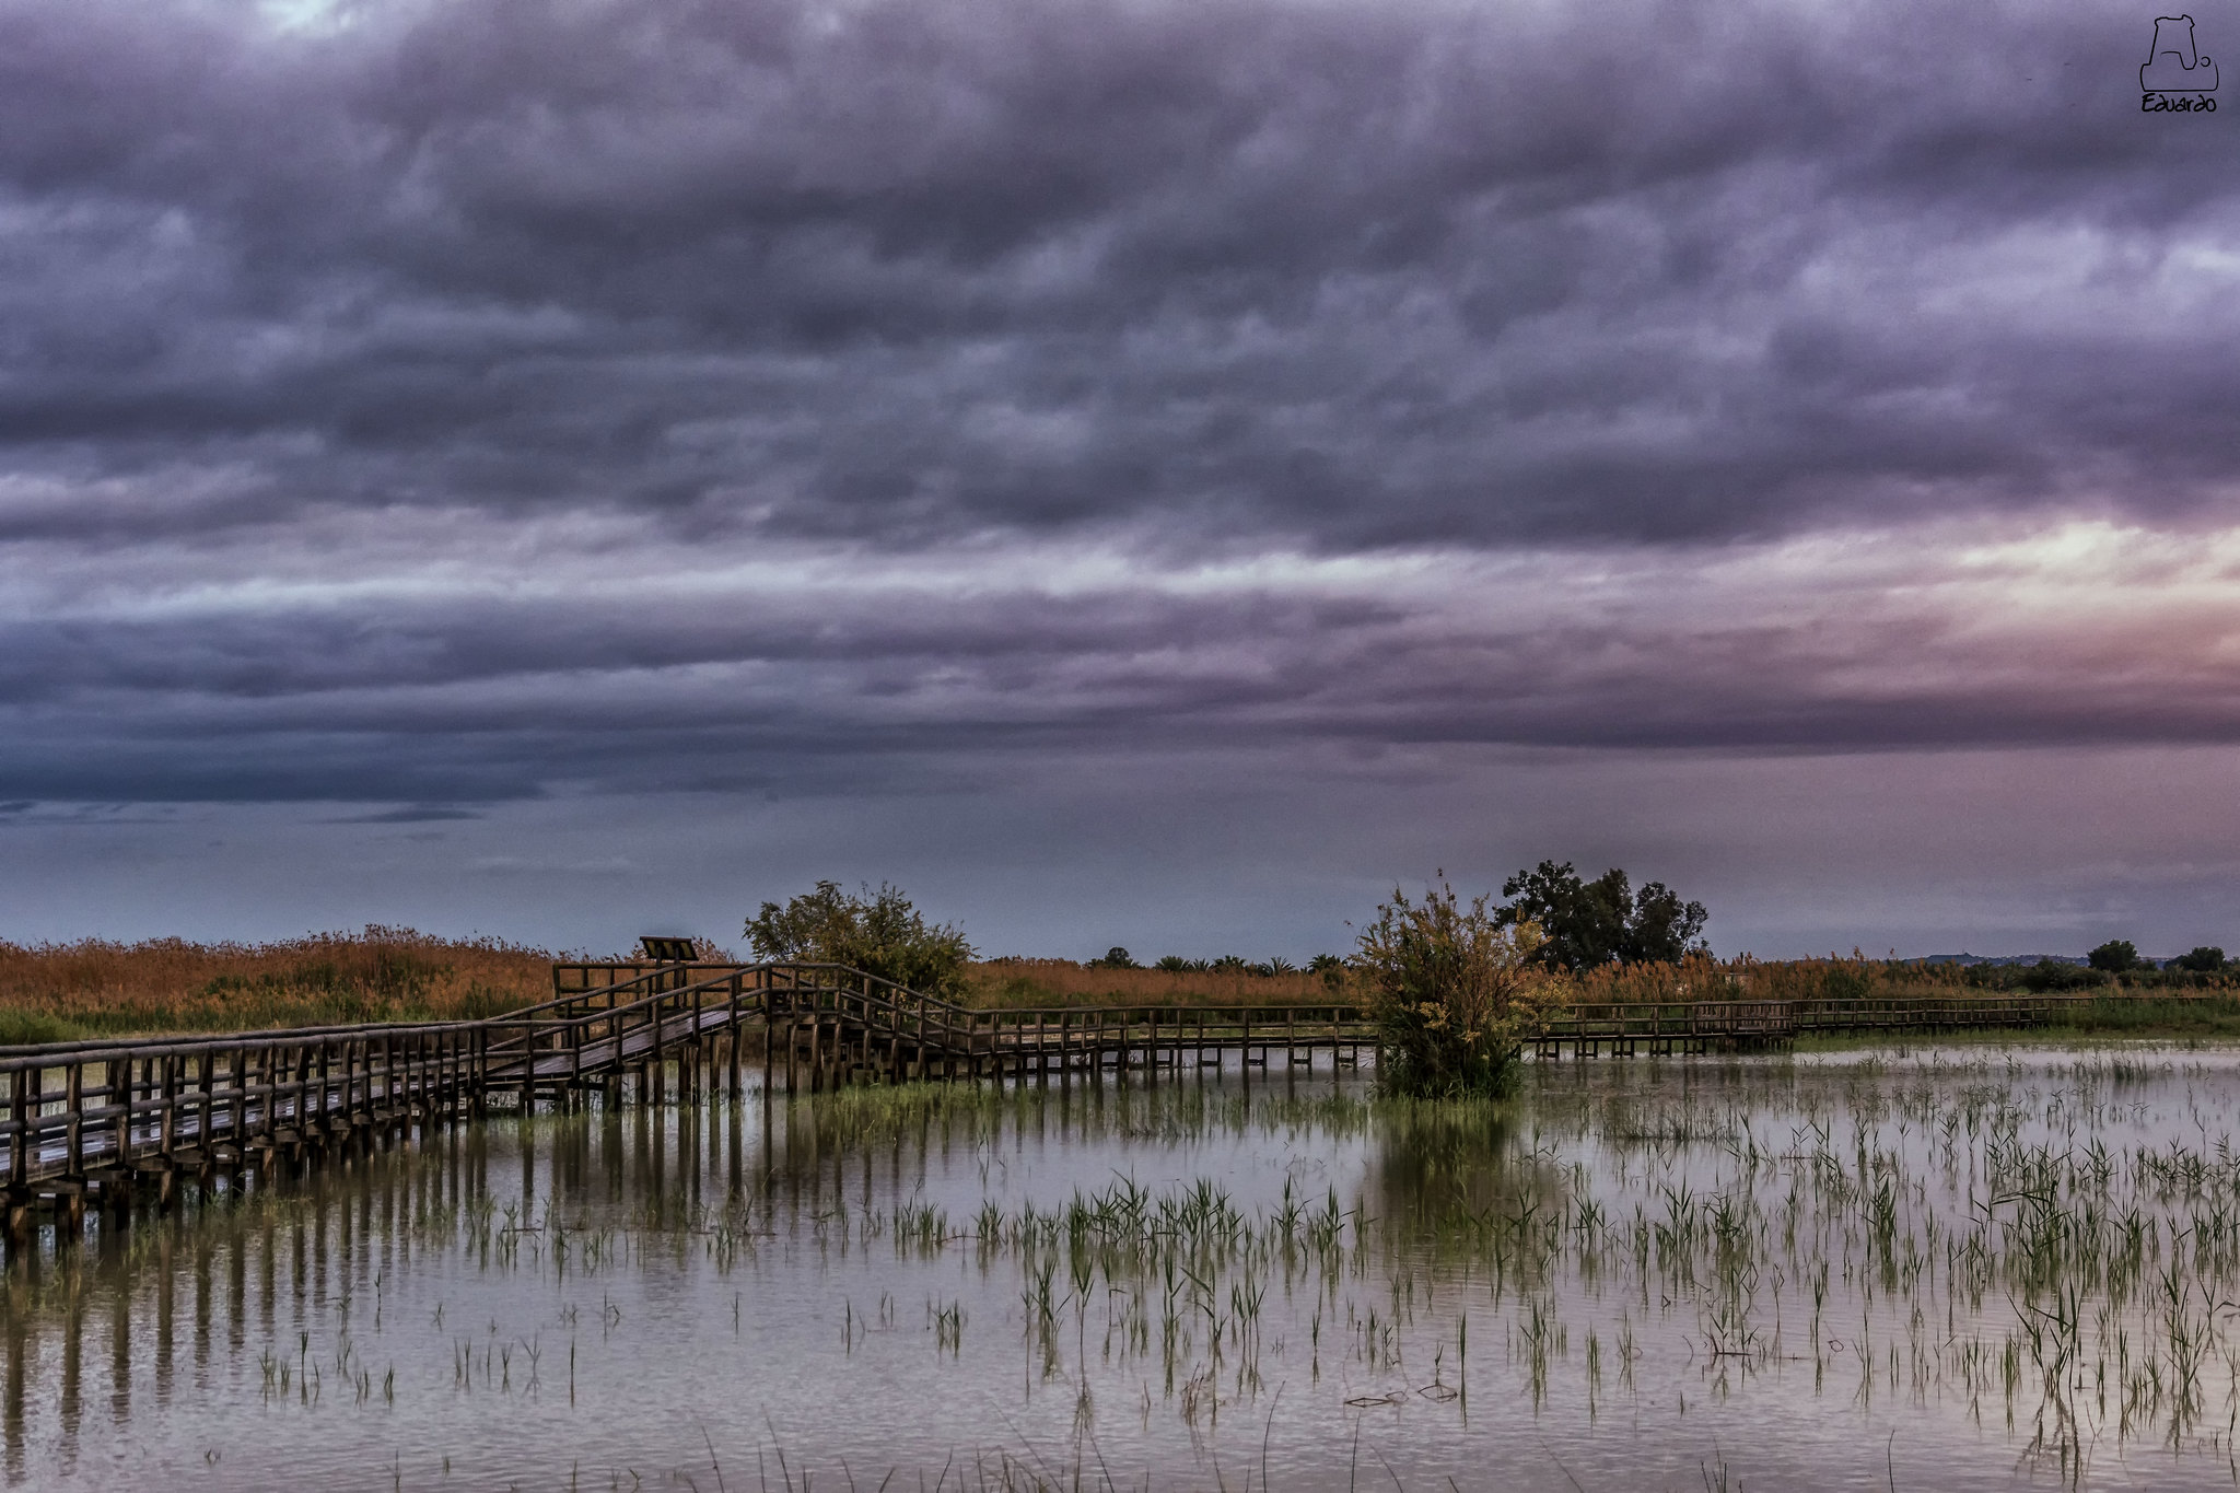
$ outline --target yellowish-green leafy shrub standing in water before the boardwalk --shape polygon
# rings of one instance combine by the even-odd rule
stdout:
[[[1501,922],[1440,882],[1378,909],[1353,965],[1378,1027],[1378,1072],[1407,1095],[1499,1092],[1559,1003],[1539,924]]]

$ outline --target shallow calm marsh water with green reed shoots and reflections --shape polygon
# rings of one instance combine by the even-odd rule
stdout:
[[[2233,1486],[2240,1054],[497,1115],[11,1260],[121,1489]]]

